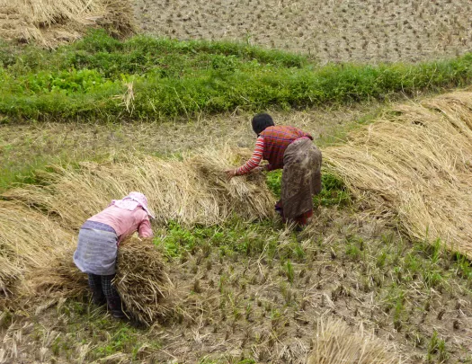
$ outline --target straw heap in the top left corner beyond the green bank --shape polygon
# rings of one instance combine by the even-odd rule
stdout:
[[[76,40],[86,27],[126,35],[133,31],[128,0],[0,0],[0,38],[36,40],[53,47]]]

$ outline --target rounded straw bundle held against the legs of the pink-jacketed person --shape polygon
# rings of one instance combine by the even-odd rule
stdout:
[[[139,322],[151,325],[173,315],[177,290],[149,239],[133,236],[120,244],[114,283],[128,312]]]

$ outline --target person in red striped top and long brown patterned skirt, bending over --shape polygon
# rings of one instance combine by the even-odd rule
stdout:
[[[227,171],[229,178],[250,173],[261,160],[269,162],[265,170],[283,168],[281,200],[275,205],[284,221],[307,225],[313,216],[313,195],[321,191],[321,151],[308,133],[289,126],[275,126],[271,115],[254,116],[253,129],[257,134],[254,154],[245,165]]]

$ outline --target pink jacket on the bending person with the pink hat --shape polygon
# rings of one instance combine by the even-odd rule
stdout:
[[[141,207],[129,211],[129,209],[120,209],[111,205],[89,218],[89,220],[113,227],[116,235],[118,235],[119,244],[135,231],[138,231],[139,237],[153,236],[147,212]]]

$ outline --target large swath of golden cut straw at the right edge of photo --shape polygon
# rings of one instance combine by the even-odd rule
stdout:
[[[405,232],[472,258],[472,93],[450,93],[394,113],[325,150],[354,196],[394,210]]]

